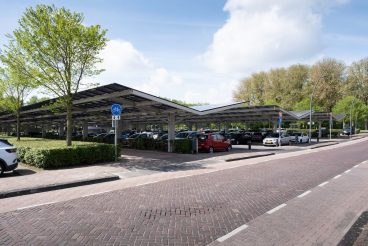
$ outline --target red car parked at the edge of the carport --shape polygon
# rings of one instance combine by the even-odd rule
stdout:
[[[200,135],[198,138],[198,150],[213,153],[219,150],[231,150],[230,140],[218,133],[209,133]]]

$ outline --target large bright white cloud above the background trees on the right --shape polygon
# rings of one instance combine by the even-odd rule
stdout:
[[[228,0],[230,16],[200,56],[220,73],[247,74],[305,62],[323,50],[323,14],[347,0]]]

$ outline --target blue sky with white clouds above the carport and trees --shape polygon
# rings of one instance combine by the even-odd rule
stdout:
[[[367,57],[365,0],[80,0],[1,1],[0,47],[27,7],[54,4],[107,29],[102,74],[186,102],[227,103],[254,72],[332,57]]]

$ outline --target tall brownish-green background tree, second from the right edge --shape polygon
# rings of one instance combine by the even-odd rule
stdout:
[[[345,86],[345,65],[332,58],[325,58],[311,68],[310,92],[313,101],[317,102],[327,112],[342,97]]]

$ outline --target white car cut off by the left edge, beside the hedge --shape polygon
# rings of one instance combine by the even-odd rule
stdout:
[[[0,139],[0,174],[18,167],[17,149],[5,139]]]

